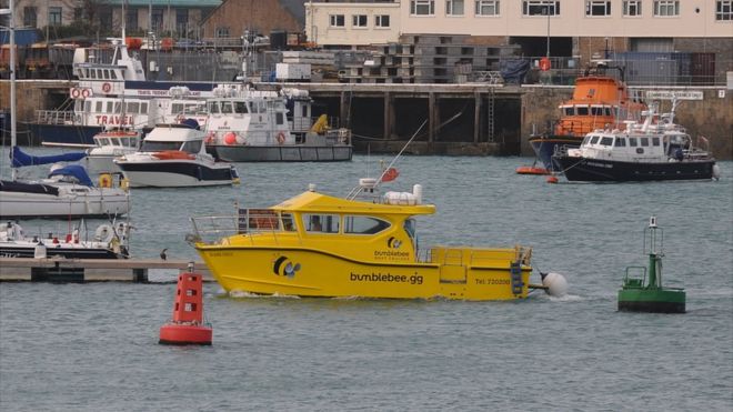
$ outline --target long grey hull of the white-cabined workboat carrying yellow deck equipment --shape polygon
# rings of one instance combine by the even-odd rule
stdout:
[[[351,145],[208,145],[214,158],[228,162],[349,161]]]

